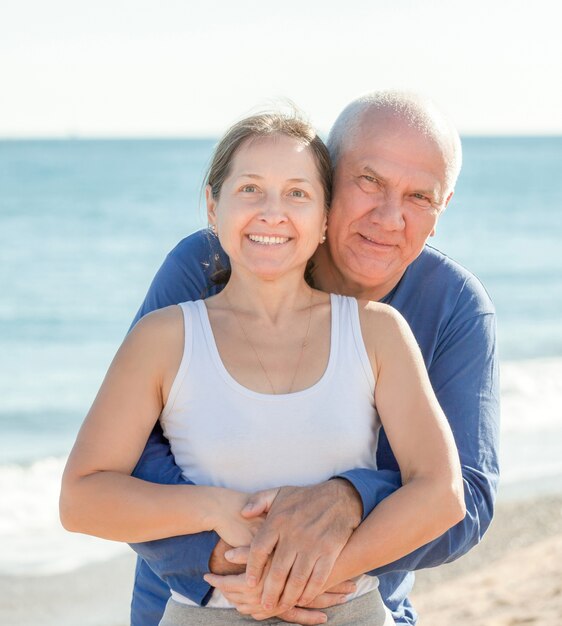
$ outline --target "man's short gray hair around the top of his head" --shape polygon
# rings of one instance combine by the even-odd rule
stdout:
[[[433,139],[446,158],[446,186],[455,187],[461,165],[462,148],[459,133],[451,121],[428,98],[405,91],[374,91],[353,100],[340,113],[328,136],[332,167],[336,167],[342,150],[354,139],[366,114],[380,111],[404,120]]]

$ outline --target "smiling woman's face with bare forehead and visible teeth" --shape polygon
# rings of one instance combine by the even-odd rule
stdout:
[[[304,273],[326,230],[324,191],[310,148],[285,135],[243,143],[207,213],[233,271],[265,279]]]

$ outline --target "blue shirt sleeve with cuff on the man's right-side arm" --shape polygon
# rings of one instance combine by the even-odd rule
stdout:
[[[434,541],[373,570],[372,575],[453,561],[482,539],[492,520],[499,478],[495,315],[481,314],[451,328],[438,347],[429,375],[459,451],[466,516]],[[384,433],[381,436],[385,437]],[[397,468],[356,469],[340,477],[350,481],[360,494],[363,518],[401,486]]]

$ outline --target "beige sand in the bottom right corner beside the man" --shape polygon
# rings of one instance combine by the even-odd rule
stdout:
[[[562,626],[562,498],[501,503],[480,545],[418,572],[419,626]]]

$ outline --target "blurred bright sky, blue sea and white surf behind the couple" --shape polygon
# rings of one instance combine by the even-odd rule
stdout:
[[[559,11],[554,0],[0,8],[0,576],[127,550],[60,528],[60,473],[154,273],[206,225],[216,138],[279,98],[324,136],[374,89],[418,91],[453,119],[464,165],[430,243],[497,307],[500,500],[560,494]]]

